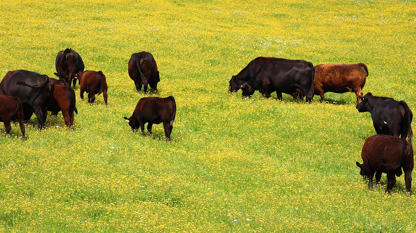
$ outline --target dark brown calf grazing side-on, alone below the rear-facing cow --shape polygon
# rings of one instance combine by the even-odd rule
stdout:
[[[173,96],[166,98],[145,97],[137,102],[131,117],[126,119],[131,126],[131,130],[135,131],[140,126],[141,133],[144,135],[144,123],[148,122],[147,130],[152,134],[152,125],[163,122],[166,140],[171,138],[173,121],[176,114],[176,102]]]

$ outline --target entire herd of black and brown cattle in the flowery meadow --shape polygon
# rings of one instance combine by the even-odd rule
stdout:
[[[56,115],[62,111],[65,124],[71,127],[74,121],[75,92],[72,89],[80,85],[80,97],[88,93],[88,102],[94,103],[95,96],[103,93],[107,104],[107,83],[102,71],[84,70],[81,56],[72,49],[59,51],[55,66],[59,79],[49,78],[27,70],[9,71],[0,83],[0,121],[5,124],[6,133],[11,130],[10,121],[18,120],[25,138],[24,121],[35,113],[42,129],[46,122],[47,111]],[[137,91],[147,91],[148,85],[157,90],[160,81],[156,61],[151,53],[140,52],[131,55],[128,64],[130,78]],[[263,97],[270,97],[276,92],[282,99],[282,93],[292,95],[295,99],[306,97],[312,102],[314,95],[319,95],[324,102],[325,92],[354,92],[357,95],[359,112],[370,112],[377,135],[367,138],[362,149],[363,164],[357,162],[360,174],[369,179],[372,187],[374,174],[379,182],[381,173],[387,174],[386,192],[390,193],[396,182],[396,176],[405,173],[406,189],[411,189],[411,172],[413,170],[413,132],[411,121],[413,114],[406,102],[388,97],[377,97],[371,93],[363,96],[362,89],[369,75],[364,63],[328,64],[313,66],[304,60],[289,60],[273,57],[258,57],[230,80],[229,92],[242,90],[243,97],[250,97],[258,90]],[[131,117],[126,121],[133,131],[141,129],[144,124],[151,133],[153,124],[163,123],[166,140],[170,139],[173,121],[176,115],[176,102],[173,96],[166,98],[141,98]],[[401,138],[399,138],[399,136]],[[408,138],[408,141],[406,141]]]

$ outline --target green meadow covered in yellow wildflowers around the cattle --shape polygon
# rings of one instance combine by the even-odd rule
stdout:
[[[355,165],[375,134],[353,93],[312,104],[276,94],[241,99],[231,75],[257,56],[314,65],[365,63],[364,94],[416,110],[416,1],[5,1],[0,77],[25,69],[54,77],[72,48],[102,70],[102,95],[79,98],[74,128],[0,125],[3,232],[416,232],[416,183],[389,196],[386,175],[368,190]],[[133,133],[137,101],[127,73],[149,51],[159,92],[176,99],[172,141]],[[416,125],[413,124],[414,129]],[[415,177],[415,175],[414,175]]]

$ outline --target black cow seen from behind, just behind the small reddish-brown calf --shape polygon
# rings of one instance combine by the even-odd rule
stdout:
[[[84,71],[84,61],[82,61],[81,56],[72,49],[65,49],[64,51],[59,51],[55,60],[56,72],[54,73],[59,79],[68,83],[68,86],[71,86],[73,80],[74,88],[77,83],[78,73]],[[78,81],[79,83],[79,81]]]

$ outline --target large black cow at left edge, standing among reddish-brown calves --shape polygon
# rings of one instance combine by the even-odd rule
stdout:
[[[0,83],[0,95],[19,97],[22,102],[25,121],[33,112],[42,129],[47,116],[47,109],[52,102],[55,85],[47,75],[40,75],[27,70],[9,71]]]

